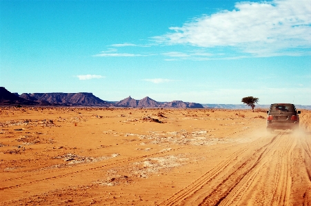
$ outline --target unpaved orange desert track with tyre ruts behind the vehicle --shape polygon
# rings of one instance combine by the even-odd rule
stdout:
[[[262,136],[161,205],[311,205],[310,148],[310,133]]]

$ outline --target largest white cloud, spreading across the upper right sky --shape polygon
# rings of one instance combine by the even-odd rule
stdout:
[[[203,15],[154,39],[169,45],[230,46],[257,56],[310,54],[310,1],[245,1],[235,8]]]

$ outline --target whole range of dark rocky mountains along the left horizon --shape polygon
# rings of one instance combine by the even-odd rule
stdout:
[[[199,103],[171,101],[169,103],[154,101],[146,96],[141,100],[131,96],[117,103],[103,101],[92,93],[11,93],[0,87],[0,105],[47,105],[47,106],[86,106],[86,107],[144,107],[144,108],[203,108]]]

